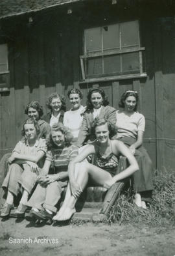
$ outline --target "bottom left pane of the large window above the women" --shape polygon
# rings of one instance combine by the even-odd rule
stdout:
[[[87,76],[102,74],[102,58],[87,59]]]

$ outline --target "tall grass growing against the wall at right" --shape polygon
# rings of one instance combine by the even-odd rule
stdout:
[[[152,204],[148,210],[132,203],[130,190],[122,193],[111,208],[108,221],[150,226],[175,225],[175,174],[156,171]]]

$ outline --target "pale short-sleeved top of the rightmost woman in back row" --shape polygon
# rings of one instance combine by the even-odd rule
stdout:
[[[137,139],[138,131],[145,131],[145,117],[139,113],[125,113],[124,111],[116,111],[117,138],[134,137]]]

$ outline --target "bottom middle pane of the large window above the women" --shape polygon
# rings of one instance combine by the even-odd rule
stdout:
[[[119,55],[104,57],[104,73],[114,73],[121,71],[121,59]]]

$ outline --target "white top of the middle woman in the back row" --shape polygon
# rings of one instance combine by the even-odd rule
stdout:
[[[77,110],[70,109],[64,114],[64,126],[68,127],[71,130],[71,134],[74,138],[78,137],[80,132],[80,127],[83,120],[82,113],[84,112],[85,107],[80,106]]]

